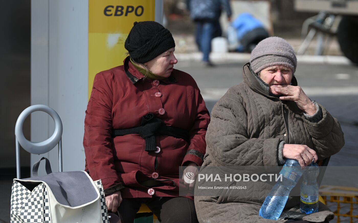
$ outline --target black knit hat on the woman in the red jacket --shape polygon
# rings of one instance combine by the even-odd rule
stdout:
[[[173,36],[163,25],[153,22],[134,22],[124,47],[129,56],[141,64],[175,47]]]

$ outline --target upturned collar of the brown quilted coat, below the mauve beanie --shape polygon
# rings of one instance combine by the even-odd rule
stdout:
[[[255,92],[262,94],[263,96],[266,96],[268,98],[275,98],[273,96],[270,96],[265,90],[262,89],[260,83],[258,83],[256,78],[253,76],[254,74],[252,72],[253,71],[251,71],[250,69],[250,63],[247,63],[243,66],[242,68],[243,82],[245,82]],[[291,83],[292,86],[297,86],[297,80],[295,76],[292,77]]]

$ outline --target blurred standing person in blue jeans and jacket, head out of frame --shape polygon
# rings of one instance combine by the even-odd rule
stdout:
[[[213,66],[209,59],[211,41],[222,34],[219,18],[223,8],[231,21],[229,0],[187,0],[187,7],[195,22],[195,41],[203,52],[204,65]]]

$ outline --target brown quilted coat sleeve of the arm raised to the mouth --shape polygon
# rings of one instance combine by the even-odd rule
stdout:
[[[338,153],[344,146],[344,135],[337,119],[319,104],[322,110],[323,118],[319,122],[310,122],[304,120],[304,125],[312,137],[314,150],[318,159],[325,159],[335,153]]]

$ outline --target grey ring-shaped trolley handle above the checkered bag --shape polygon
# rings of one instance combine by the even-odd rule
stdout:
[[[32,112],[35,111],[43,111],[48,113],[52,119],[55,121],[55,131],[50,138],[45,141],[34,143],[25,138],[23,133],[23,125],[27,116],[29,116]],[[58,170],[62,172],[62,121],[60,116],[53,110],[52,108],[43,105],[36,104],[26,108],[19,115],[18,120],[15,125],[15,143],[16,143],[16,177],[21,179],[20,177],[20,145],[27,152],[33,154],[43,154],[49,152],[58,144]]]

